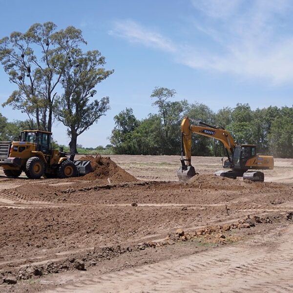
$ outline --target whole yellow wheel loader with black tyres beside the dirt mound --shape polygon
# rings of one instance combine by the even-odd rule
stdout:
[[[5,175],[17,178],[24,171],[31,179],[68,178],[92,171],[90,161],[74,161],[74,154],[53,149],[51,138],[52,132],[24,130],[20,141],[0,142],[0,166]]]

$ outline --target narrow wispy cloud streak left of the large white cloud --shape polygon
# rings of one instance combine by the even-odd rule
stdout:
[[[109,33],[124,38],[129,42],[141,43],[167,52],[176,51],[176,46],[160,33],[144,28],[131,20],[116,21],[113,30]]]

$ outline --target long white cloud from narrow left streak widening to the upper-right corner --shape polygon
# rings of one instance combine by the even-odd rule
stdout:
[[[179,42],[134,21],[117,21],[112,35],[170,53],[195,69],[265,79],[293,81],[293,31],[290,0],[191,0],[195,16],[185,29],[201,42]],[[200,18],[198,17],[200,16]],[[199,21],[200,20],[200,21]],[[212,43],[212,44],[211,44]]]

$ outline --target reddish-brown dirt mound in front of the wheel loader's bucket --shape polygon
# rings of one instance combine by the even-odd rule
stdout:
[[[96,157],[85,156],[80,158],[80,160],[90,161],[90,165],[93,168],[93,172],[81,177],[82,180],[109,179],[110,183],[138,181],[126,170],[117,166],[110,157],[102,157],[101,155],[96,155]]]

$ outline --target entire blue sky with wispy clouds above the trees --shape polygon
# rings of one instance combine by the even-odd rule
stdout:
[[[0,0],[0,7],[0,38],[36,22],[74,25],[86,50],[100,50],[105,68],[115,69],[96,88],[111,110],[79,137],[83,146],[108,144],[113,117],[126,107],[139,119],[156,112],[155,86],[214,111],[293,105],[291,0]],[[14,89],[0,68],[0,102]],[[0,112],[10,121],[26,118],[9,107]],[[53,132],[68,144],[61,123]]]

